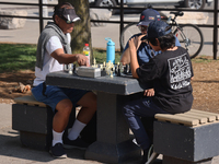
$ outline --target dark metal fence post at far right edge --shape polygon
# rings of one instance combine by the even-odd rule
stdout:
[[[214,59],[217,59],[218,52],[218,0],[215,0],[215,9],[214,9]]]

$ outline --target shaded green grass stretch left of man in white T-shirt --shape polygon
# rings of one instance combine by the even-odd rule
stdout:
[[[35,45],[0,44],[0,72],[34,70]]]

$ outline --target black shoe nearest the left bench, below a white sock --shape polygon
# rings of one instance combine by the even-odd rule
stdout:
[[[67,154],[64,150],[64,147],[61,143],[56,143],[54,147],[50,148],[49,153],[54,157],[59,157],[59,159],[66,159]]]

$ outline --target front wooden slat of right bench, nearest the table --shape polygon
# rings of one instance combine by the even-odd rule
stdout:
[[[171,114],[157,114],[155,118],[162,121],[170,121],[173,124],[183,124],[188,127],[197,126],[199,124],[199,119],[171,115]]]

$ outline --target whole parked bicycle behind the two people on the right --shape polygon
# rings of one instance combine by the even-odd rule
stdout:
[[[195,58],[198,56],[204,45],[204,36],[201,31],[197,25],[194,24],[177,24],[175,20],[177,16],[184,15],[182,11],[170,13],[174,14],[174,17],[161,15],[161,20],[165,21],[172,26],[172,32],[180,40],[181,46],[188,50],[191,58]],[[127,42],[134,34],[140,33],[137,24],[137,22],[134,22],[124,27],[119,38],[123,49],[125,49]]]

